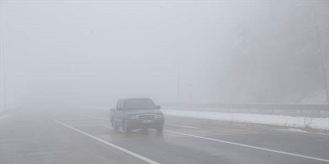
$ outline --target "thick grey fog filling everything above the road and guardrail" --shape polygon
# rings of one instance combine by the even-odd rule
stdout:
[[[328,1],[0,3],[2,109],[328,103]]]

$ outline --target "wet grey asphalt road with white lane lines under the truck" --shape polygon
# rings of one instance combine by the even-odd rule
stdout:
[[[328,164],[328,135],[165,116],[165,131],[114,132],[104,110],[1,116],[0,164]]]

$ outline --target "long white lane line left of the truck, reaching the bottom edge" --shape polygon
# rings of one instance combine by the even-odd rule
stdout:
[[[149,163],[149,164],[160,164],[160,163],[157,163],[157,162],[155,162],[155,161],[153,161],[153,160],[151,160],[151,159],[148,159],[148,158],[146,158],[146,157],[144,157],[144,156],[141,156],[141,155],[139,155],[139,154],[137,154],[137,153],[134,153],[134,152],[132,152],[132,151],[129,151],[129,150],[125,149],[125,148],[122,148],[122,147],[120,147],[120,146],[114,145],[114,144],[112,144],[112,143],[110,143],[110,142],[108,142],[108,141],[102,140],[102,139],[97,138],[97,137],[95,137],[95,136],[93,136],[93,135],[91,135],[91,134],[88,134],[88,133],[83,132],[83,131],[81,131],[81,130],[79,130],[79,129],[76,129],[76,128],[73,128],[73,127],[71,127],[71,126],[69,126],[69,125],[66,125],[66,124],[64,124],[64,123],[62,123],[62,122],[60,122],[60,121],[58,121],[58,120],[55,120],[55,119],[52,119],[52,120],[55,121],[55,122],[57,122],[57,123],[59,123],[59,124],[61,124],[61,125],[63,125],[63,126],[66,126],[66,127],[70,128],[70,129],[72,129],[72,130],[75,130],[75,131],[77,131],[77,132],[79,132],[79,133],[81,133],[81,134],[84,134],[84,135],[86,135],[86,136],[88,136],[88,137],[90,137],[90,138],[92,138],[92,139],[95,139],[95,140],[97,140],[97,141],[99,141],[99,142],[101,142],[101,143],[103,143],[103,144],[105,144],[105,145],[108,145],[108,146],[113,147],[113,148],[115,148],[115,149],[118,149],[118,150],[120,150],[120,151],[122,151],[122,152],[124,152],[124,153],[127,153],[127,154],[129,154],[129,155],[131,155],[131,156],[134,156],[134,157],[136,157],[136,158],[138,158],[138,159],[141,159],[141,160],[143,160],[143,161],[145,161],[145,162],[147,162],[147,163]]]

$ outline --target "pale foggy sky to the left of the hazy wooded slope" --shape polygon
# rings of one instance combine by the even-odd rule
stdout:
[[[1,1],[2,91],[13,105],[176,102],[179,76],[181,101],[206,102],[233,27],[268,3]]]

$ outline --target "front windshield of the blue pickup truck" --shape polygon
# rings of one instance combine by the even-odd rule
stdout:
[[[124,101],[125,109],[154,109],[155,105],[151,99],[127,99]]]

